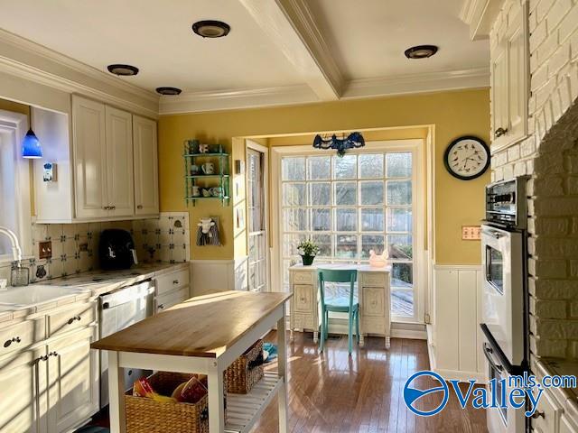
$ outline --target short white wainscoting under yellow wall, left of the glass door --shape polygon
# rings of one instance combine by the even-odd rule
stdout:
[[[247,290],[248,256],[234,260],[191,260],[191,296],[225,290]]]

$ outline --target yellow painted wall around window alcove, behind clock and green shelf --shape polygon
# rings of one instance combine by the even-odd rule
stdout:
[[[162,116],[159,120],[161,210],[186,209],[182,142],[187,138],[223,143],[230,151],[232,137],[424,124],[435,126],[436,263],[480,263],[480,243],[461,241],[461,226],[479,224],[483,217],[483,186],[489,183],[489,172],[477,180],[457,180],[443,167],[443,152],[453,139],[465,134],[478,135],[489,143],[488,89]],[[223,208],[217,200],[205,201],[189,210],[191,227],[199,217],[218,216],[224,243],[221,247],[193,246],[191,258],[233,258],[232,205]]]

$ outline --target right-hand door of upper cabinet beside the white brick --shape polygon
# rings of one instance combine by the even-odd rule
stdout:
[[[527,134],[527,32],[525,9],[510,16],[505,43],[508,51],[508,144],[523,139]]]

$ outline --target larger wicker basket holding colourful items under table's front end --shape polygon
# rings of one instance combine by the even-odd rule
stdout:
[[[171,395],[192,374],[157,372],[148,380],[155,392]],[[160,402],[126,392],[126,433],[209,433],[207,396],[195,404]]]

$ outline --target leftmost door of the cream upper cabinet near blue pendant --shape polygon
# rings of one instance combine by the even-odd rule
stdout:
[[[72,97],[72,137],[76,217],[107,217],[104,104]]]

